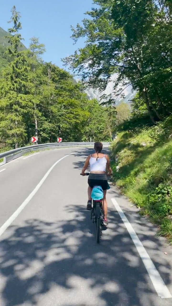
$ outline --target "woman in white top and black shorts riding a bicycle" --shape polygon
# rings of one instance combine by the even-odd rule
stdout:
[[[95,185],[101,186],[103,189],[103,204],[104,204],[104,223],[107,222],[107,201],[106,192],[108,187],[107,175],[112,174],[108,155],[101,153],[103,144],[99,141],[94,144],[95,153],[89,155],[85,161],[81,175],[84,175],[85,170],[90,164],[90,174],[88,177],[88,203],[87,209],[92,209],[92,188]],[[108,171],[108,174],[106,173]]]

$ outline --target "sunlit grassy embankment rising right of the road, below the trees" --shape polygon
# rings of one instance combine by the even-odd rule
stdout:
[[[132,124],[111,144],[114,182],[172,243],[172,116],[155,126]]]

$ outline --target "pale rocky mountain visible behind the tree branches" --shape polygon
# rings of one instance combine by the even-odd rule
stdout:
[[[88,88],[84,90],[84,92],[88,95],[88,98],[91,99],[97,99],[98,101],[105,102],[106,100],[101,100],[100,97],[103,94],[110,95],[112,94],[113,98],[116,98],[115,92],[114,92],[114,82],[117,78],[117,73],[114,73],[111,76],[110,82],[107,84],[107,88],[105,91],[99,91],[98,89],[93,89],[93,88]],[[119,85],[119,88],[121,86]],[[121,95],[118,96],[116,99],[116,105],[119,104],[120,102],[124,101],[125,103],[130,103],[130,100],[134,97],[136,94],[136,91],[132,91],[132,87],[128,86],[127,88],[124,87],[124,90],[122,92],[125,95],[125,98],[123,98]]]

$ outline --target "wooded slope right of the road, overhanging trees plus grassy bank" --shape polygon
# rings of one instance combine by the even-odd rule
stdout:
[[[87,86],[105,89],[113,73],[137,91],[131,117],[116,122],[111,144],[114,182],[159,223],[172,241],[172,3],[169,0],[93,0],[72,38],[84,48],[64,59]]]

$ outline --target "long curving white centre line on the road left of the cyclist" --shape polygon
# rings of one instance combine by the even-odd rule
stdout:
[[[35,189],[30,193],[30,195],[27,197],[26,200],[24,200],[24,202],[21,204],[21,206],[13,213],[13,215],[0,227],[0,236],[5,232],[5,230],[10,226],[10,224],[17,218],[17,216],[21,213],[21,211],[24,209],[24,207],[29,203],[29,201],[33,198],[33,196],[36,194],[36,192],[38,191],[38,189],[41,187],[41,185],[43,184],[43,182],[46,180],[47,176],[50,174],[51,170],[53,170],[53,168],[58,164],[58,162],[60,162],[62,159],[64,159],[65,157],[68,157],[68,154],[63,156],[61,159],[59,159],[57,162],[54,163],[53,166],[51,166],[51,168],[47,171],[47,173],[44,175],[44,177],[42,178],[42,180],[38,183],[38,185],[35,187]]]

